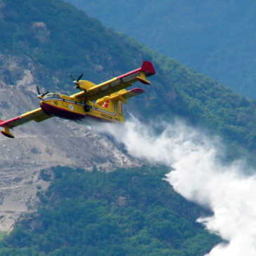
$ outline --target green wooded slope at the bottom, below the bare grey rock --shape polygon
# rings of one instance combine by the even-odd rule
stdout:
[[[220,242],[195,222],[208,211],[176,194],[165,168],[53,172],[38,213],[4,237],[1,255],[194,256]]]

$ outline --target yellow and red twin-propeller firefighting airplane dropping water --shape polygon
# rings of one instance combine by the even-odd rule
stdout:
[[[10,129],[20,126],[29,121],[41,122],[53,116],[63,119],[79,120],[83,118],[92,118],[100,121],[123,122],[122,102],[127,103],[130,97],[144,93],[144,90],[135,88],[126,90],[136,81],[144,84],[150,84],[147,76],[156,74],[151,62],[144,61],[142,67],[131,72],[114,77],[109,81],[95,85],[90,81],[74,79],[73,83],[81,92],[74,95],[62,95],[60,93],[43,93],[37,91],[40,100],[38,109],[16,116],[7,121],[0,119],[0,126],[3,128],[1,133],[6,137],[14,138]],[[96,102],[95,102],[96,101]]]

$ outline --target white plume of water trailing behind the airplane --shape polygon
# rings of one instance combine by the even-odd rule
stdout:
[[[172,166],[175,170],[166,180],[175,191],[213,210],[213,216],[198,222],[229,243],[215,246],[208,255],[256,255],[256,176],[244,174],[243,161],[222,163],[218,140],[181,122],[162,124],[159,134],[135,119],[124,126],[102,127],[123,142],[130,155]]]

